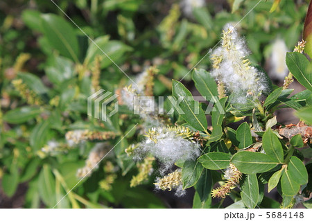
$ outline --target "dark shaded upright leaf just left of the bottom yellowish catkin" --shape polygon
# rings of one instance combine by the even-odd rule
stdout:
[[[211,197],[212,177],[210,170],[204,169],[196,184],[196,192],[201,202],[206,202]]]

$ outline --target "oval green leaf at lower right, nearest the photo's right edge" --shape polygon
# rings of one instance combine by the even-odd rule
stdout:
[[[308,182],[308,172],[302,161],[293,156],[288,163],[288,174],[291,180],[297,182],[298,184],[304,185]]]

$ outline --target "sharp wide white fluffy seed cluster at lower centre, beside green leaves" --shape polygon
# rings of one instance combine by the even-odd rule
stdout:
[[[184,139],[177,132],[167,127],[153,127],[153,139],[140,143],[139,153],[149,153],[162,162],[161,173],[173,166],[178,160],[196,159],[200,155],[199,144],[196,141]]]

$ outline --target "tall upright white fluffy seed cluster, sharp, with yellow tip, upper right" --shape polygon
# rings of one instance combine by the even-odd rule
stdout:
[[[248,55],[245,40],[239,37],[232,25],[227,24],[221,45],[211,54],[214,68],[211,75],[223,82],[225,89],[235,94],[239,103],[244,103],[246,98],[254,100],[267,89],[264,73],[250,66],[246,59]]]

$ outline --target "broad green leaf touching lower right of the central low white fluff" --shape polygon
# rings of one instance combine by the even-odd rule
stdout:
[[[182,167],[183,188],[194,186],[198,182],[203,169],[198,161],[185,161]]]

